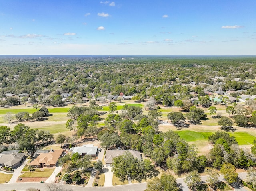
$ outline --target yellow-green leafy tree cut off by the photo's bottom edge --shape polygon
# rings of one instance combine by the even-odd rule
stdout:
[[[179,191],[180,188],[173,175],[163,173],[160,178],[154,177],[147,183],[146,191]]]

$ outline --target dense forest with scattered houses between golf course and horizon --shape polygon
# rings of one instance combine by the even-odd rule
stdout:
[[[81,92],[90,97],[92,92],[96,96],[123,92],[163,98],[168,93],[191,91],[183,83],[213,85],[215,76],[224,77],[218,79],[223,90],[248,89],[253,85],[244,80],[255,78],[255,63],[253,57],[6,58],[0,60],[1,94]]]

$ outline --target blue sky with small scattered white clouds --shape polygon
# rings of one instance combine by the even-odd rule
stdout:
[[[0,0],[1,55],[256,55],[256,0]]]

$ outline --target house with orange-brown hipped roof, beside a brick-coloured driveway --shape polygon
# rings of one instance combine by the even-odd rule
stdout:
[[[62,156],[62,149],[50,150],[49,153],[40,153],[35,156],[35,158],[28,163],[28,165],[40,167],[55,167],[58,163],[58,159]]]

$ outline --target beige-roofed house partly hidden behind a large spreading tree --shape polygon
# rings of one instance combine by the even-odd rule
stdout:
[[[125,152],[130,152],[134,157],[140,159],[141,155],[139,151],[134,150],[107,150],[106,151],[106,167],[111,166],[113,162],[113,158],[123,155]]]

